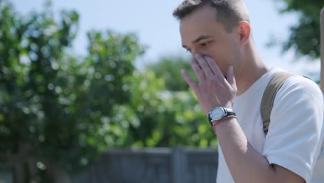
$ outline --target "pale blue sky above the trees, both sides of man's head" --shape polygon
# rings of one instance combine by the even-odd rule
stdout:
[[[9,0],[22,15],[31,10],[42,10],[45,0]],[[113,30],[117,33],[136,33],[140,43],[147,46],[145,55],[136,61],[137,67],[156,62],[162,56],[187,55],[181,46],[179,22],[172,11],[182,0],[52,0],[54,12],[76,10],[79,15],[79,33],[73,44],[73,53],[86,55],[89,30]],[[307,60],[294,62],[294,51],[282,55],[281,47],[269,48],[267,43],[276,37],[286,40],[289,27],[296,24],[298,16],[280,15],[282,4],[277,0],[245,0],[251,17],[255,45],[270,67],[282,67],[287,71],[307,75],[319,71],[319,62]]]

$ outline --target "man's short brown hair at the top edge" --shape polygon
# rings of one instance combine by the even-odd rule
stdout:
[[[249,13],[247,10],[244,11],[244,8],[242,9],[242,7],[240,7],[244,4],[238,3],[239,1],[240,0],[186,0],[174,10],[173,16],[181,20],[198,8],[209,5],[217,10],[217,21],[221,22],[228,32],[232,32],[234,26],[236,26],[239,21],[250,21]]]

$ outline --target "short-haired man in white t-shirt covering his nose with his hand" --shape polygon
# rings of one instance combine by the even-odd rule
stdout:
[[[314,82],[289,77],[263,131],[262,95],[281,69],[258,55],[244,1],[186,0],[173,15],[198,83],[184,70],[183,78],[219,141],[217,182],[324,182],[323,95]]]

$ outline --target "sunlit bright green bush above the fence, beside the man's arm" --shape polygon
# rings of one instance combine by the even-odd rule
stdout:
[[[136,72],[130,83],[132,101],[128,107],[132,114],[128,113],[131,118],[125,121],[132,123],[127,146],[216,146],[215,134],[191,89],[166,89],[165,79],[157,78],[150,68]]]

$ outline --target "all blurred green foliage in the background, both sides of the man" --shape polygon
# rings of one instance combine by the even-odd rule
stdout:
[[[318,60],[324,1],[282,3],[278,11],[300,15],[282,49]],[[87,54],[73,55],[78,22],[73,10],[23,16],[0,0],[0,163],[14,167],[17,181],[73,175],[105,149],[217,146],[179,72],[190,70],[188,56],[136,69],[141,37],[112,30],[91,30]]]

